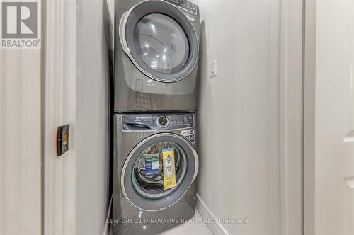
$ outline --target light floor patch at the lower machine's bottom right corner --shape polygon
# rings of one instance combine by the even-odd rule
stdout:
[[[162,233],[161,235],[212,235],[212,232],[209,230],[206,224],[202,223],[202,217],[200,216],[199,212],[196,211],[195,215],[190,222],[181,224],[178,227],[173,229],[169,229]]]

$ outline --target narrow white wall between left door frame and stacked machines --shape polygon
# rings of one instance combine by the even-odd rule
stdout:
[[[103,2],[78,1],[76,234],[103,234],[108,158],[108,69]]]

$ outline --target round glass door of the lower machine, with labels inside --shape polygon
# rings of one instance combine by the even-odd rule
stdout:
[[[176,186],[164,190],[164,149],[173,149]],[[146,158],[158,156],[159,170],[146,172]],[[198,156],[190,144],[176,134],[154,134],[132,149],[122,168],[122,192],[140,210],[163,210],[188,191],[198,173]]]

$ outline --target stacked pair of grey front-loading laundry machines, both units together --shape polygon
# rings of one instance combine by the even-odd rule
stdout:
[[[115,1],[113,234],[195,214],[199,32],[190,1]]]

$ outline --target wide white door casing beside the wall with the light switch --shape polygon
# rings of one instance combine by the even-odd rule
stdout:
[[[302,234],[303,0],[280,0],[281,234]]]

